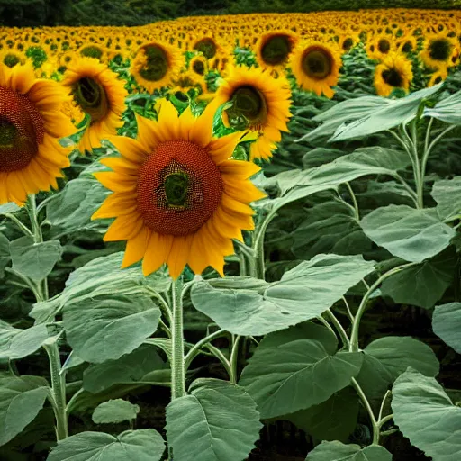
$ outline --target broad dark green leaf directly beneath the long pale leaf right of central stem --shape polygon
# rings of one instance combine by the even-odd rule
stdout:
[[[332,353],[318,340],[300,339],[297,331],[277,331],[259,343],[239,384],[263,419],[303,410],[325,402],[358,375],[361,353]]]

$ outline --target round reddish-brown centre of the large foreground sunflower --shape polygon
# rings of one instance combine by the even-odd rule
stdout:
[[[186,140],[162,142],[138,173],[138,209],[149,229],[193,234],[221,203],[221,173],[206,149]]]

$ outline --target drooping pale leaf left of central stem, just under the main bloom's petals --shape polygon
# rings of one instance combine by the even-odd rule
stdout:
[[[167,292],[170,278],[166,272],[158,270],[149,277],[142,275],[140,267],[122,269],[123,253],[95,258],[83,267],[72,272],[64,290],[54,298],[36,303],[30,312],[37,323],[49,321],[64,305],[91,300],[108,293],[138,296],[149,294],[149,290],[158,293]]]

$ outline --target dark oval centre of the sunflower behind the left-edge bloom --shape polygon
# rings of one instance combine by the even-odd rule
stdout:
[[[77,80],[73,95],[80,108],[90,115],[92,123],[104,118],[108,110],[107,96],[103,86],[93,78],[83,77]]]

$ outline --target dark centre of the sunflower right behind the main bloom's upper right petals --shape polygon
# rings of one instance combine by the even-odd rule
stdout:
[[[266,121],[266,98],[254,86],[240,86],[233,92],[230,101],[232,107],[226,112],[232,127],[244,129]]]

